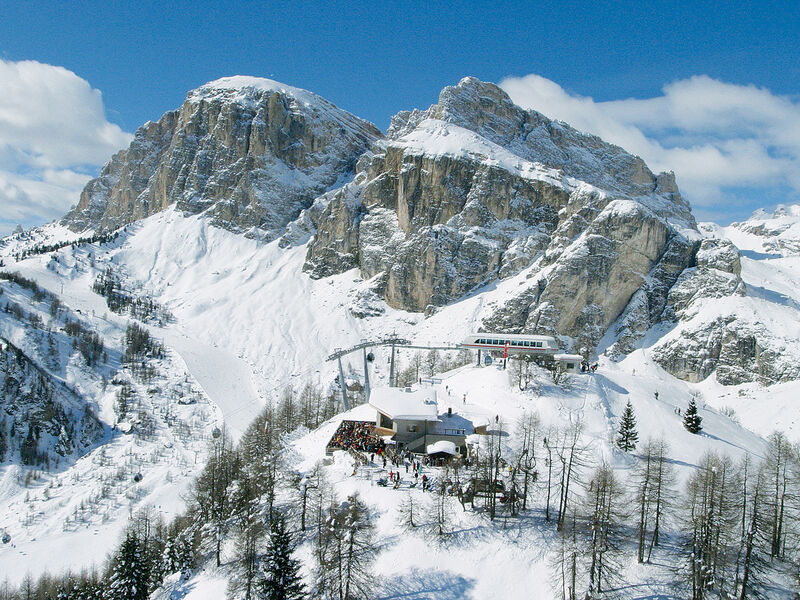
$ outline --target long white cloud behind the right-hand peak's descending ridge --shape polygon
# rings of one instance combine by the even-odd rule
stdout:
[[[775,190],[800,194],[800,102],[753,85],[696,76],[667,84],[654,98],[596,102],[540,77],[508,77],[512,100],[672,170],[693,205],[711,210],[732,190],[754,204]],[[752,208],[752,207],[751,207]]]

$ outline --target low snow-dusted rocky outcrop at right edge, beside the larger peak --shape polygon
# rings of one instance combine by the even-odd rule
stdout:
[[[794,240],[785,235],[791,227],[785,217],[759,211],[727,229],[743,245],[791,254]],[[703,229],[724,235],[720,228]],[[749,276],[756,279],[764,268],[759,261],[770,255],[748,254],[756,258],[747,259]],[[669,291],[660,321],[671,330],[662,332],[650,353],[673,375],[696,382],[715,374],[724,385],[751,381],[769,385],[800,378],[794,358],[800,352],[794,331],[800,305],[789,295],[757,284],[749,289],[742,261],[730,240],[704,239],[696,264],[684,270]]]

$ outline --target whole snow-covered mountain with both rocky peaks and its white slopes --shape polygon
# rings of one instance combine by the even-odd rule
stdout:
[[[101,560],[133,508],[180,510],[216,427],[238,438],[286,386],[328,390],[334,348],[389,334],[442,345],[478,329],[547,333],[591,355],[600,374],[571,388],[540,379],[520,392],[494,367],[465,367],[439,392],[467,394],[487,418],[530,407],[553,425],[580,415],[620,471],[631,464],[611,437],[628,400],[643,439],[673,441],[684,479],[705,450],[759,455],[776,428],[798,440],[799,223],[800,208],[779,207],[698,225],[672,174],[474,78],[397,115],[385,137],[310,92],[255,78],[207,84],[144,125],[62,224],[0,241],[2,271],[40,290],[0,279],[0,309],[20,307],[0,312],[14,365],[0,383],[17,386],[3,396],[0,433],[45,410],[30,402],[38,379],[62,407],[36,441],[41,456],[62,457],[58,469],[33,481],[19,450],[31,427],[13,426],[0,529],[14,545],[0,547],[0,570]],[[130,360],[131,323],[163,351]],[[385,385],[388,356],[375,353],[372,384]],[[348,377],[359,379],[353,356]],[[675,412],[693,393],[702,438]],[[337,423],[298,438],[298,470]],[[461,567],[448,562],[457,577],[494,570],[467,554]],[[538,589],[530,578],[543,560],[516,583],[520,570],[503,570],[507,589]],[[387,555],[392,581],[397,568]],[[473,594],[488,589],[479,579]]]

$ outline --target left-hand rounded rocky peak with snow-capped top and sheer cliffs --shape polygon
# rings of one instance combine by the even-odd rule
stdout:
[[[270,239],[352,174],[380,131],[304,90],[230,77],[147,123],[86,186],[74,230],[114,229],[175,204]]]

